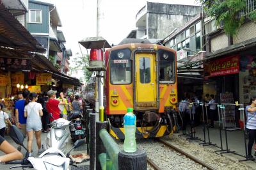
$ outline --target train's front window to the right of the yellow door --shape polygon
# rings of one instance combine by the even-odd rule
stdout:
[[[160,83],[175,83],[175,54],[167,50],[158,50]]]

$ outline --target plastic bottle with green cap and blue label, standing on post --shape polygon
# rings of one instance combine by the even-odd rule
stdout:
[[[135,132],[136,116],[133,114],[132,108],[127,108],[127,114],[124,116],[124,151],[135,152],[137,150]]]

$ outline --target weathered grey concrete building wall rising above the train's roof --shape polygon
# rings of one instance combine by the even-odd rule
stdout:
[[[184,26],[200,12],[201,6],[147,2],[147,36],[165,38],[175,27]]]

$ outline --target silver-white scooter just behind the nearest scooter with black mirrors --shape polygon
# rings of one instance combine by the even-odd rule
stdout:
[[[56,148],[65,153],[69,134],[67,127],[70,126],[70,121],[60,118],[52,121],[51,125],[51,130],[48,132],[44,144],[42,144],[42,149]]]

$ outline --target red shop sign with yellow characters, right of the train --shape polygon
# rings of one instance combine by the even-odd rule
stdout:
[[[216,59],[204,65],[205,77],[239,73],[239,56]]]

